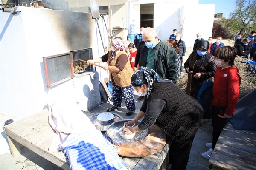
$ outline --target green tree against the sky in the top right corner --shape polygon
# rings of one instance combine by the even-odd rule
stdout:
[[[256,24],[256,0],[236,0],[236,7],[226,21],[226,28],[236,34],[238,31],[253,31]]]

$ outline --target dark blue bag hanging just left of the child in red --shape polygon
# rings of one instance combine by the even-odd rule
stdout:
[[[211,103],[212,103],[212,87],[213,82],[204,82],[197,96],[197,101],[204,109],[203,119],[211,119]]]

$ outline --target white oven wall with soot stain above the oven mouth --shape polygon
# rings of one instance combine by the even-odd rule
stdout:
[[[76,18],[84,14],[28,7],[19,7],[18,10],[21,12],[15,15],[0,11],[0,112],[20,119],[47,108],[51,96],[74,94],[72,79],[48,91],[43,57],[93,48],[93,57],[96,58],[104,55],[104,49],[96,22]],[[53,19],[65,15],[72,15],[74,19]],[[90,32],[84,30],[86,24],[92,25]],[[103,30],[102,20],[99,20],[99,25],[102,26],[100,29],[103,36],[107,36],[106,29],[105,33]],[[74,29],[64,28],[69,26],[74,26]],[[79,28],[80,32],[75,28]],[[86,34],[90,35],[85,36]],[[68,35],[76,37],[76,40]],[[104,39],[107,41],[105,44],[108,44],[108,38]],[[99,71],[104,82],[104,78],[108,77],[108,71],[104,70],[101,74],[99,67],[96,71]],[[81,101],[81,98],[78,100]],[[81,108],[85,111],[87,109],[85,105]]]

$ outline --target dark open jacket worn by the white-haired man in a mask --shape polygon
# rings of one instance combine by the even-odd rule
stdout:
[[[144,46],[142,48],[142,64],[141,66],[146,67],[148,48]],[[163,43],[161,40],[158,42],[157,46],[152,49],[155,53],[154,60],[154,71],[157,72],[160,78],[170,79],[172,82],[176,83],[178,78],[178,63],[176,60],[177,53],[174,48],[170,45]]]

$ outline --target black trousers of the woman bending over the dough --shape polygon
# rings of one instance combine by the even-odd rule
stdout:
[[[177,144],[177,142],[172,141],[169,154],[169,164],[172,164],[172,170],[186,170],[186,165],[189,161],[190,149],[194,138],[195,135],[182,146]]]

